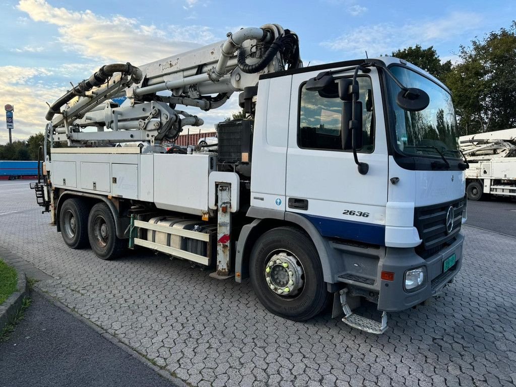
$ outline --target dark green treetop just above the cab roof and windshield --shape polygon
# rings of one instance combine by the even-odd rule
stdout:
[[[433,46],[423,49],[416,44],[415,47],[410,46],[407,49],[393,51],[392,56],[404,59],[439,79],[442,79],[451,70],[451,61],[441,62]]]

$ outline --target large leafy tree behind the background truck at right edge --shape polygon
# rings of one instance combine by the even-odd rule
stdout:
[[[445,77],[454,97],[461,134],[516,126],[516,21],[471,47],[460,47],[461,63]]]

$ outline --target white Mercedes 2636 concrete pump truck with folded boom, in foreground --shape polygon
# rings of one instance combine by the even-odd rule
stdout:
[[[247,117],[217,124],[216,148],[170,146],[203,124],[179,106],[215,109],[235,91]],[[303,68],[298,37],[267,24],[103,66],[46,119],[37,201],[68,246],[101,259],[146,247],[214,278],[250,277],[279,316],[306,320],[333,302],[374,333],[461,267],[466,163],[450,92],[404,60]],[[354,313],[361,300],[381,318]]]

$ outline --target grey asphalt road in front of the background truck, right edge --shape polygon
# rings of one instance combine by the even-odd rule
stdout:
[[[466,224],[516,236],[516,200],[490,198],[467,202]]]

